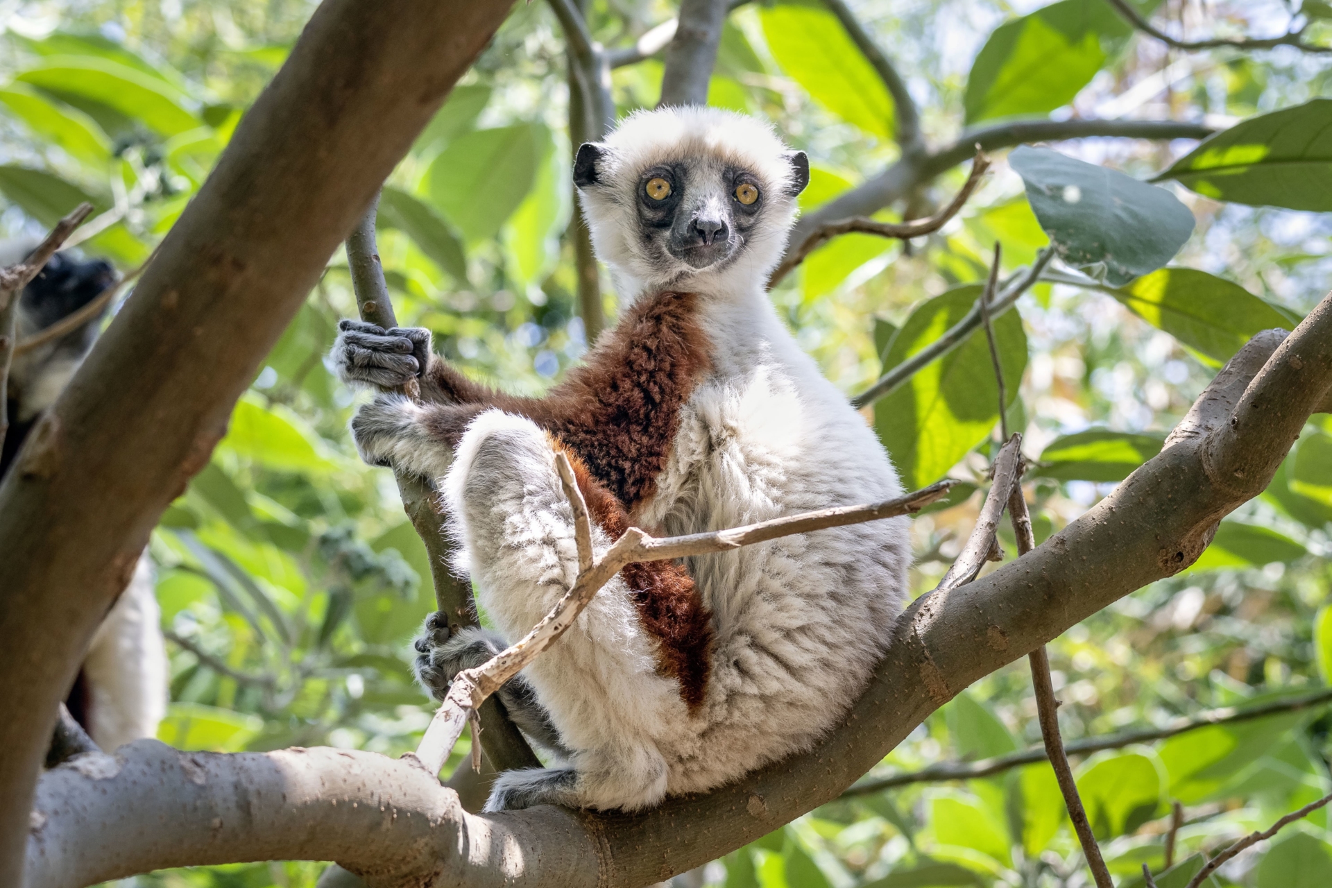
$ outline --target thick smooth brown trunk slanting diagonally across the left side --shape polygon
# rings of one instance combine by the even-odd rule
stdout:
[[[148,534],[509,0],[326,0],[0,486],[0,884],[56,704]]]

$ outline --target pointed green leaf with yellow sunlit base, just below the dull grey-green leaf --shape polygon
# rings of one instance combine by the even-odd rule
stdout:
[[[1187,268],[1163,268],[1111,293],[1130,312],[1224,363],[1253,334],[1291,322],[1239,284]]]

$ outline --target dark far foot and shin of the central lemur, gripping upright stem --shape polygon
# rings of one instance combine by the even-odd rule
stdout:
[[[425,631],[416,640],[413,668],[422,687],[442,703],[458,672],[481,666],[505,647],[507,643],[497,632],[484,628],[450,632],[448,616],[436,611],[425,619]],[[537,700],[537,691],[525,676],[515,675],[505,682],[496,696],[523,734],[555,755],[569,755],[555,726],[550,723],[550,714]]]

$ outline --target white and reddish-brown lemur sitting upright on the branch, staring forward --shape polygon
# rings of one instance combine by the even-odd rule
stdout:
[[[417,642],[441,699],[563,595],[577,574],[563,451],[594,546],[630,525],[721,530],[900,494],[864,419],[801,351],[765,282],[809,161],[755,120],[641,112],[582,145],[574,181],[621,317],[543,398],[510,397],[430,353],[422,329],[344,321],[333,361],[381,389],[352,421],[373,465],[440,479],[458,567],[500,630]],[[806,750],[883,655],[910,566],[906,519],[631,564],[501,691],[555,763],[507,771],[486,809],[639,809]]]

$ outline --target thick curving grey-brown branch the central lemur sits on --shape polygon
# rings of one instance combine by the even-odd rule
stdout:
[[[408,780],[409,760],[334,751],[201,758],[140,743],[119,768],[143,775],[145,788],[127,787],[128,796],[119,784],[80,774],[80,759],[43,779],[29,843],[35,875],[27,885],[75,885],[224,859],[326,856],[374,885],[509,879],[549,888],[638,888],[685,872],[834,799],[976,679],[1191,564],[1221,517],[1267,486],[1309,413],[1325,406],[1329,386],[1332,300],[1324,300],[1288,338],[1268,332],[1244,346],[1164,450],[1082,518],[988,576],[918,599],[843,724],[810,752],[733,785],[667,799],[637,815],[534,808],[472,816],[448,801],[446,789]],[[200,783],[190,767],[163,763],[164,755],[204,762],[205,777],[213,768],[220,776]],[[293,777],[265,764],[297,755],[316,772],[300,785],[326,789],[297,793]],[[241,772],[244,804],[230,788]],[[358,783],[349,783],[353,777]],[[286,803],[268,801],[282,792],[292,792]],[[284,816],[274,819],[265,804]],[[117,816],[127,808],[139,812],[132,823]],[[101,861],[108,845],[116,868]],[[426,868],[422,855],[438,855],[437,868]]]

